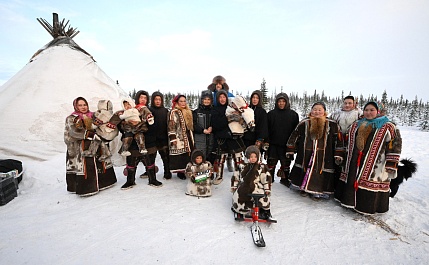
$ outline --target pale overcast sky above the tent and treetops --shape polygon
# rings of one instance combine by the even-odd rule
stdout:
[[[429,100],[427,0],[6,0],[0,85],[52,40],[36,18],[53,12],[125,91],[201,91],[220,74],[234,93],[265,78],[270,93]]]

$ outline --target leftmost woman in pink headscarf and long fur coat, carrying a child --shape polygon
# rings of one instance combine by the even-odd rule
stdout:
[[[89,196],[116,183],[110,158],[98,161],[96,156],[83,157],[92,140],[100,140],[92,128],[93,112],[83,97],[73,101],[74,111],[67,116],[64,128],[67,191]],[[97,152],[99,154],[99,152]]]

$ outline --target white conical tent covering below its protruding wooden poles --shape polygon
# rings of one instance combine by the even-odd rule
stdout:
[[[101,99],[116,111],[127,94],[72,38],[56,37],[0,87],[0,159],[65,153],[64,122],[78,96],[91,111]]]

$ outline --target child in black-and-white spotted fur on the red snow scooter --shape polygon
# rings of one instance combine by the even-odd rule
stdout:
[[[232,207],[231,209],[239,214],[249,215],[253,208],[253,199],[249,194],[265,194],[259,199],[259,217],[270,219],[270,195],[271,195],[271,175],[268,166],[260,163],[261,153],[259,147],[251,145],[247,147],[245,156],[248,163],[241,171],[239,179],[235,176],[231,178]]]

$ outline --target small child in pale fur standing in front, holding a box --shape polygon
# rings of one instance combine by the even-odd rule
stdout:
[[[189,178],[186,195],[209,197],[212,195],[213,166],[205,160],[204,153],[195,149],[191,162],[186,165],[185,174]]]

